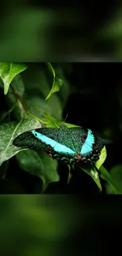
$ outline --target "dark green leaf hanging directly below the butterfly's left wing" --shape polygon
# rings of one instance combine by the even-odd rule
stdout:
[[[57,174],[57,160],[50,158],[45,152],[38,150],[24,150],[17,154],[17,162],[21,169],[39,176],[43,180],[43,191],[54,181],[59,180]]]

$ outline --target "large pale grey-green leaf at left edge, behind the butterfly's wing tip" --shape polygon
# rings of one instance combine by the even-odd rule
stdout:
[[[35,121],[35,119],[31,117],[24,118],[19,123],[13,121],[0,125],[0,165],[21,150],[26,150],[13,145],[13,139],[15,139],[17,135],[33,128],[40,127],[41,124],[39,121]]]

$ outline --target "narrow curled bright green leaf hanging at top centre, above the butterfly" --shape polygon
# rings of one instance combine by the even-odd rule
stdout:
[[[48,65],[50,71],[53,73],[54,81],[53,81],[52,89],[51,89],[49,95],[47,95],[46,99],[50,98],[50,96],[54,92],[59,91],[61,85],[63,84],[63,80],[61,80],[61,78],[59,78],[58,76],[55,75],[54,69],[53,69],[52,65],[50,65],[50,62],[48,62],[47,65]]]

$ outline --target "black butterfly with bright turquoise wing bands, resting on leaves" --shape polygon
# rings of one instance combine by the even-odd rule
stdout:
[[[108,143],[97,133],[87,128],[38,128],[24,132],[13,140],[13,145],[45,150],[52,158],[75,164],[83,161],[94,163],[102,148]]]

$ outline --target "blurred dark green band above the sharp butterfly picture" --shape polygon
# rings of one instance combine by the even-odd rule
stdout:
[[[92,1],[4,1],[0,55],[4,61],[121,61],[122,4]]]

